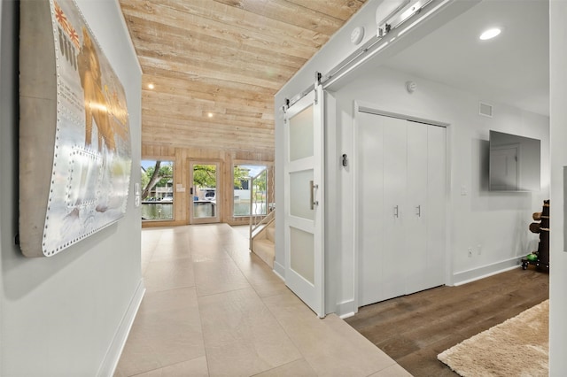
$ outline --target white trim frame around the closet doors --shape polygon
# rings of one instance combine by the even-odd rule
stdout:
[[[401,112],[390,112],[390,111],[386,111],[384,109],[381,109],[379,105],[377,104],[371,104],[371,103],[367,103],[364,101],[359,101],[359,100],[355,100],[354,101],[354,106],[353,106],[353,192],[354,193],[358,193],[358,189],[359,189],[359,175],[361,174],[361,172],[359,171],[359,167],[358,167],[358,160],[359,158],[359,153],[361,153],[361,150],[359,148],[358,145],[358,130],[359,127],[358,126],[358,113],[359,112],[369,112],[372,114],[376,114],[376,115],[380,115],[380,116],[384,116],[384,117],[391,117],[391,118],[397,118],[397,119],[405,119],[405,120],[409,120],[409,121],[414,121],[414,122],[418,122],[418,123],[424,123],[424,124],[428,124],[431,126],[438,126],[438,127],[445,127],[446,129],[446,199],[445,199],[445,228],[447,229],[447,232],[445,233],[445,284],[446,285],[452,285],[453,284],[453,278],[452,278],[452,269],[451,269],[451,265],[452,265],[452,256],[451,253],[448,252],[449,250],[449,238],[450,238],[450,234],[451,234],[451,227],[450,224],[453,223],[452,220],[452,211],[450,210],[450,198],[451,198],[451,134],[452,134],[452,127],[451,124],[442,120],[436,120],[436,119],[426,119],[426,118],[422,118],[422,117],[418,117],[415,115],[411,115],[408,113],[401,113]],[[353,195],[353,301],[354,301],[354,305],[353,305],[353,310],[354,312],[358,312],[358,309],[360,307],[360,263],[361,263],[361,258],[360,258],[360,250],[359,250],[359,229],[360,229],[360,225],[359,225],[359,205],[361,204],[359,201],[359,197],[357,194]]]

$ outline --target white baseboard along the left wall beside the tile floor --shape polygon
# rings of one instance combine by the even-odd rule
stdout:
[[[140,304],[142,304],[144,293],[144,281],[140,279],[140,282],[136,287],[136,291],[134,292],[134,296],[132,296],[130,304],[128,304],[128,308],[120,321],[120,325],[118,326],[116,333],[114,334],[113,342],[108,347],[108,350],[106,350],[105,359],[98,368],[98,377],[112,377],[114,375],[116,366],[120,360],[120,355],[122,354],[122,350],[124,350],[124,345],[128,339],[128,334],[134,324],[134,319],[136,319],[136,313],[140,308]]]

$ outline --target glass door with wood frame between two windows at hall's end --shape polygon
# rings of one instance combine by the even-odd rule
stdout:
[[[189,163],[190,224],[221,221],[221,163],[191,161]]]

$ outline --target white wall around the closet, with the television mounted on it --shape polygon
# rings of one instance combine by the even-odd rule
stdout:
[[[409,94],[406,81],[416,81],[417,90]],[[447,284],[478,278],[486,273],[501,271],[518,264],[518,259],[537,250],[538,236],[528,226],[532,212],[541,211],[549,197],[549,119],[547,116],[505,104],[495,104],[489,98],[449,88],[436,82],[406,73],[378,68],[341,88],[334,94],[337,100],[338,150],[335,156],[346,153],[351,165],[356,164],[353,144],[354,101],[374,104],[377,109],[450,124],[448,128],[449,200],[447,202],[447,250],[449,267]],[[493,104],[493,118],[478,115],[478,101]],[[488,191],[488,133],[497,130],[541,140],[542,190],[536,193],[496,193]],[[330,151],[332,155],[332,151]],[[338,160],[338,158],[335,158]],[[330,164],[333,164],[331,161]],[[332,166],[330,167],[332,168]],[[441,168],[441,167],[439,167]],[[356,267],[353,250],[354,224],[353,169],[341,169],[340,207],[334,216],[341,219],[340,247],[327,252],[328,259],[340,260],[342,282],[336,297],[341,310],[354,299]],[[328,185],[329,187],[329,185]],[[462,195],[462,188],[467,192]],[[331,207],[331,208],[330,208]],[[332,204],[327,209],[333,211]],[[481,254],[478,255],[478,245]],[[473,248],[473,257],[468,256]],[[333,277],[332,280],[337,280]],[[355,307],[351,308],[353,311]],[[348,312],[339,312],[346,314]]]

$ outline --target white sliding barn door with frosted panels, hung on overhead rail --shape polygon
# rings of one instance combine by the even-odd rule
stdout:
[[[285,113],[285,283],[324,317],[323,92]]]

